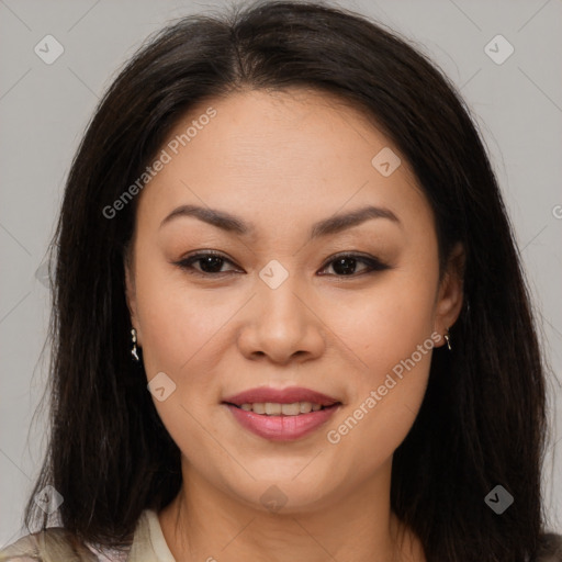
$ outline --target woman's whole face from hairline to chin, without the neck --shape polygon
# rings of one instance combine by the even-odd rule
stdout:
[[[202,104],[161,150],[127,302],[184,476],[285,512],[387,477],[461,305],[405,159],[296,89]]]

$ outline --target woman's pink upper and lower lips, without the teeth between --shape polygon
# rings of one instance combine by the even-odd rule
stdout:
[[[299,414],[297,416],[268,416],[246,412],[237,406],[241,404],[273,402],[292,404],[294,402],[312,402],[325,406],[317,412]],[[308,389],[291,387],[251,389],[226,398],[226,404],[234,418],[249,431],[274,441],[291,441],[304,437],[324,425],[341,405],[336,398],[326,396]]]

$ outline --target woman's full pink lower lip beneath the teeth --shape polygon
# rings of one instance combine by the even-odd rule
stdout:
[[[232,404],[226,406],[235,419],[252,434],[273,441],[291,441],[318,429],[334,415],[339,404],[297,416],[267,416],[246,412]]]

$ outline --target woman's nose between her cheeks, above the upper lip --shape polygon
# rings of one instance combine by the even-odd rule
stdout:
[[[258,281],[239,331],[240,351],[248,359],[266,357],[278,364],[321,357],[325,329],[322,311],[316,307],[317,301],[300,289],[292,276],[277,289]]]

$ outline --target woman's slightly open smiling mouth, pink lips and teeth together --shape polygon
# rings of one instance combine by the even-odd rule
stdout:
[[[323,426],[341,402],[308,389],[252,389],[223,401],[234,419],[265,439],[289,441]]]

